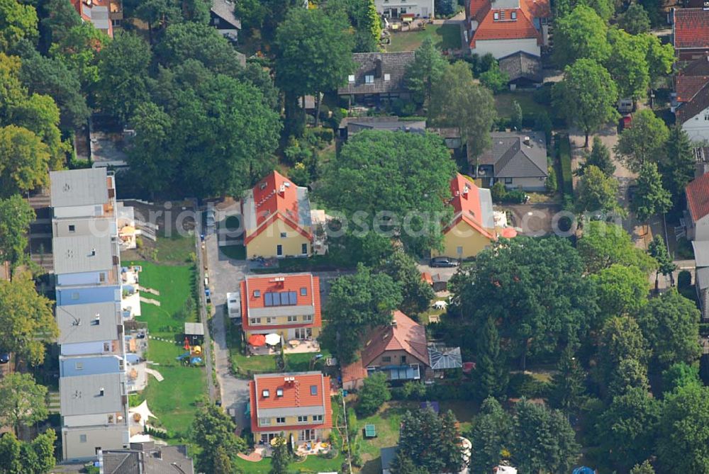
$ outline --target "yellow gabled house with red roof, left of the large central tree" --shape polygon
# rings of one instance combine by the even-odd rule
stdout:
[[[241,202],[247,258],[309,256],[313,229],[308,189],[272,171]]]

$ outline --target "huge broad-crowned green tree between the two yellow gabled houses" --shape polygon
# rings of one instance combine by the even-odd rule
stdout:
[[[345,213],[359,235],[374,230],[396,236],[409,252],[424,254],[440,248],[440,221],[450,215],[445,200],[454,174],[455,163],[439,136],[366,130],[330,160],[318,193],[331,209]]]

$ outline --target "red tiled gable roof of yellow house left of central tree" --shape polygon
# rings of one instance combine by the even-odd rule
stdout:
[[[303,237],[311,238],[310,232],[298,222],[296,188],[293,181],[275,170],[252,188],[256,207],[256,230],[245,237],[244,244],[255,239],[276,219],[285,222]]]

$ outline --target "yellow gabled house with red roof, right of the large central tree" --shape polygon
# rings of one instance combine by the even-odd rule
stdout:
[[[482,249],[500,237],[515,237],[511,227],[495,226],[492,196],[489,189],[479,188],[474,182],[457,174],[450,181],[453,219],[443,229],[443,251],[440,255],[455,259],[476,256]]]

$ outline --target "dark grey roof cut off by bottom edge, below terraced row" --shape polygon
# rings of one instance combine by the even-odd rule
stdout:
[[[104,451],[105,474],[194,474],[187,447],[131,443],[130,449]]]

